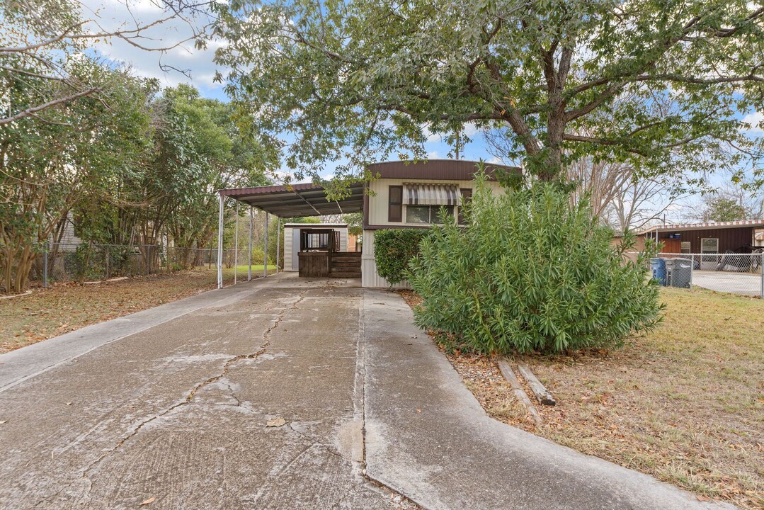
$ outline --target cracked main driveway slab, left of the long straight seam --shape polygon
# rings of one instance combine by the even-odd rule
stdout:
[[[57,364],[24,355],[58,339],[0,356],[0,508],[395,508],[360,473],[361,290],[224,291],[119,341],[70,333],[105,345]]]

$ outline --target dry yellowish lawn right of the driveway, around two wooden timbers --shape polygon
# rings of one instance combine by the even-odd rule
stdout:
[[[526,362],[557,399],[535,427],[493,359],[447,352],[486,411],[584,453],[764,508],[764,300],[663,289],[665,320],[615,352]],[[530,391],[526,392],[533,398]]]

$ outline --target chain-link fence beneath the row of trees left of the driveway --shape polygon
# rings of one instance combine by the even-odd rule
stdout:
[[[218,249],[214,247],[47,243],[39,252],[30,272],[30,281],[44,287],[54,282],[103,281],[193,269],[215,273],[218,264]],[[222,253],[224,284],[246,280],[249,275],[248,249],[224,249]],[[252,257],[252,277],[255,278],[264,271],[262,249],[254,249]],[[273,261],[268,269],[275,271]]]

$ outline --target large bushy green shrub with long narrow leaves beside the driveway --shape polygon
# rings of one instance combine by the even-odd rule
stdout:
[[[422,297],[417,325],[486,353],[620,346],[659,320],[646,259],[623,258],[586,200],[555,184],[494,196],[478,176],[467,227],[422,240],[406,278]],[[633,240],[632,240],[633,244]]]

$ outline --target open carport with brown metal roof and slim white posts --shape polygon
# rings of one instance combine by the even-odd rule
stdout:
[[[364,184],[352,183],[345,190],[344,197],[338,200],[328,200],[326,187],[320,184],[282,184],[277,186],[258,186],[244,188],[228,188],[218,190],[219,217],[218,217],[218,288],[223,286],[223,224],[225,214],[225,199],[236,200],[237,229],[234,236],[234,245],[238,252],[238,206],[249,206],[249,271],[248,280],[252,279],[252,228],[254,222],[254,210],[265,213],[265,236],[264,236],[264,268],[263,276],[268,274],[268,222],[270,216],[276,216],[278,222],[277,232],[281,231],[282,218],[298,218],[302,216],[327,216],[331,214],[359,213],[364,204]],[[281,236],[277,237],[276,252],[280,252]],[[236,265],[238,261],[235,260]],[[278,272],[278,265],[276,268]],[[234,283],[236,281],[234,280]]]

